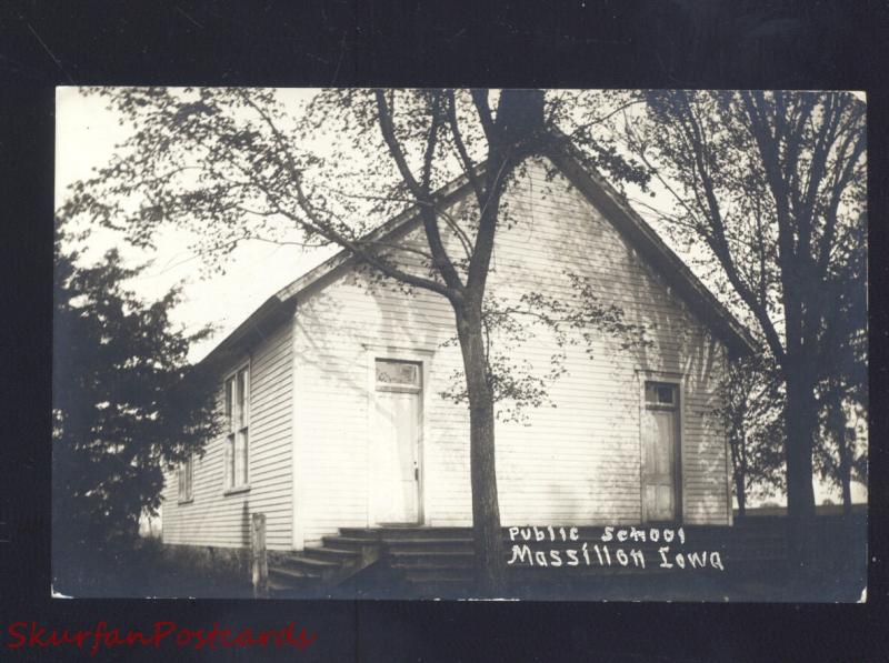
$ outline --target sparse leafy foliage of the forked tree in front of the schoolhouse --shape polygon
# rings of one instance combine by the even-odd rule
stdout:
[[[610,133],[598,131],[638,103],[620,91],[550,92],[539,131],[527,134],[515,128],[526,121],[528,104],[498,106],[498,112],[513,114],[498,118],[489,103],[499,103],[501,93],[479,90],[332,89],[298,108],[274,90],[99,88],[92,93],[106,97],[133,132],[107,168],[74,187],[64,213],[124,230],[138,247],[150,247],[162,223],[188,228],[199,238],[192,249],[209,270],[223,270],[224,257],[246,241],[336,244],[358,259],[370,288],[403,294],[426,288],[453,299],[469,285],[473,261],[481,289],[493,270],[479,268],[487,251],[478,242],[480,211],[495,211],[499,228],[516,223],[501,192],[522,174],[520,153],[571,142],[580,147],[576,155],[610,172],[618,184],[645,184],[649,178],[641,163],[621,157]],[[502,122],[499,138],[492,122]],[[498,141],[509,143],[512,131],[511,155],[486,180],[480,163]],[[453,209],[436,199],[434,192],[461,173],[472,182],[478,207]],[[431,212],[428,242],[374,232],[410,205]],[[533,333],[522,320],[550,328],[560,348],[577,339],[591,348],[602,331],[640,333],[622,322],[619,309],[600,305],[588,281],[571,283],[570,311],[566,302],[533,292],[515,305],[490,294],[479,298],[488,382],[498,402],[513,404],[501,410],[506,418],[546,403],[547,385],[563,372],[562,353],[542,372],[509,360],[515,343]],[[578,332],[571,341],[569,329]],[[458,401],[467,396],[466,384],[448,392]]]

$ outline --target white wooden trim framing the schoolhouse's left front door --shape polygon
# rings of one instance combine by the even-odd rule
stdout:
[[[373,503],[373,463],[371,459],[373,445],[373,406],[374,399],[377,398],[377,366],[378,359],[391,359],[396,361],[409,361],[420,364],[420,439],[417,441],[417,465],[419,469],[417,480],[417,523],[418,525],[427,524],[426,519],[426,483],[427,483],[427,469],[426,469],[426,441],[429,436],[429,384],[430,384],[430,369],[434,352],[431,350],[422,350],[418,348],[403,348],[398,345],[377,345],[377,344],[362,344],[364,349],[364,361],[367,363],[367,425],[366,425],[366,442],[364,454],[367,458],[366,466],[366,484],[364,484],[364,504],[367,526],[376,528],[374,514],[372,513]],[[409,523],[413,524],[413,523]]]

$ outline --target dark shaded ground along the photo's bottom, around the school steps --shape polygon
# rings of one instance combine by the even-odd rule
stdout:
[[[766,518],[780,518],[768,515]],[[866,519],[860,512],[845,520],[819,518],[820,555],[805,574],[772,562],[759,567],[713,569],[663,575],[583,577],[552,575],[545,584],[518,585],[513,597],[535,600],[676,601],[676,602],[858,602],[867,585]],[[84,569],[84,571],[87,571]],[[558,572],[558,570],[541,570]],[[142,542],[130,560],[81,574],[77,583],[57,581],[57,592],[73,596],[114,597],[249,597],[249,575],[196,570],[178,563],[157,540]],[[340,599],[407,597],[411,587],[387,569],[371,567],[330,592]]]

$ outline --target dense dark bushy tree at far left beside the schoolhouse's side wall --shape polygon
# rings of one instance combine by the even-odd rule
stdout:
[[[211,391],[186,356],[170,291],[147,304],[126,289],[140,268],[117,251],[82,267],[57,224],[52,471],[53,565],[71,582],[84,560],[126,553],[142,513],[157,515],[163,468],[216,431]]]

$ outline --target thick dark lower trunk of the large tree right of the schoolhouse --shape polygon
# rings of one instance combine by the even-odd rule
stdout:
[[[818,410],[812,385],[788,371],[787,375],[787,511],[788,550],[791,562],[805,566],[811,560],[815,518],[812,449],[818,431]]]

